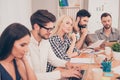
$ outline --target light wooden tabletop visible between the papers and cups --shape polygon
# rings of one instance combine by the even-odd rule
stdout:
[[[111,44],[109,45],[111,46]],[[98,53],[98,54],[92,54],[92,57],[94,58],[94,61],[95,63],[91,63],[91,64],[85,64],[85,63],[80,63],[78,64],[80,66],[80,69],[82,70],[85,70],[85,74],[84,74],[84,79],[83,80],[94,80],[94,73],[93,73],[93,69],[94,68],[98,68],[98,69],[101,69],[101,64],[99,63],[99,60],[98,59],[98,55],[105,55],[107,58],[113,58],[112,60],[112,68],[114,67],[117,67],[117,66],[120,66],[120,60],[115,60],[114,57],[113,57],[113,53],[111,51],[111,54],[110,55],[106,55],[105,54],[105,50],[103,48],[99,49],[99,50],[102,50],[102,52]],[[91,54],[88,54],[88,53],[81,53],[79,56],[77,56],[76,58],[90,58]],[[99,80],[116,80],[116,77],[120,76],[120,74],[116,74],[114,73],[113,71],[110,72],[111,74],[113,74],[113,76],[105,76],[104,72],[102,73],[102,77],[104,78],[109,78],[109,79],[102,79],[100,77]],[[97,75],[97,73],[96,73]]]

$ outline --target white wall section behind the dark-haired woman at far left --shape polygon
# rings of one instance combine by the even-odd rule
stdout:
[[[0,34],[11,23],[19,22],[30,29],[31,0],[0,0]]]

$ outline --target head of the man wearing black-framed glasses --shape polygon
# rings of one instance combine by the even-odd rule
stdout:
[[[30,21],[36,35],[43,39],[48,39],[51,30],[54,28],[56,17],[48,10],[37,10],[31,15]]]

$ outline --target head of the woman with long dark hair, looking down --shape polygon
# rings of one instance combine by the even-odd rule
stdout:
[[[8,58],[10,55],[22,58],[28,50],[29,41],[30,32],[24,25],[10,24],[0,37],[0,60]]]

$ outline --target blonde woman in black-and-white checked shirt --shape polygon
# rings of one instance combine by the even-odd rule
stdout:
[[[64,60],[69,60],[72,57],[79,55],[79,50],[75,48],[76,36],[72,33],[73,19],[70,16],[61,16],[56,24],[55,29],[49,42],[57,57]],[[47,71],[55,69],[48,63]]]

